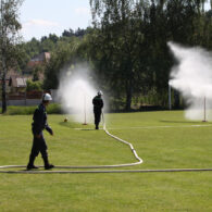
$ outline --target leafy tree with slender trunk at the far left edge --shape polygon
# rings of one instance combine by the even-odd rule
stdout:
[[[0,3],[0,72],[2,78],[2,113],[7,111],[5,76],[15,65],[21,24],[17,20],[22,0],[1,0]]]

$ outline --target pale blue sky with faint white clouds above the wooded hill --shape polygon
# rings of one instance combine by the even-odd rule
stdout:
[[[89,0],[24,0],[20,21],[25,41],[49,34],[61,36],[64,29],[91,25]]]

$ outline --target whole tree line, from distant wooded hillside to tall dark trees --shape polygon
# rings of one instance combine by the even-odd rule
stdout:
[[[61,72],[86,62],[117,109],[132,103],[167,105],[175,63],[169,41],[212,49],[212,10],[203,0],[90,0],[92,27],[64,30],[22,43],[20,68],[50,51],[45,88],[58,88]],[[211,1],[212,4],[212,1]],[[179,104],[175,92],[175,105]]]

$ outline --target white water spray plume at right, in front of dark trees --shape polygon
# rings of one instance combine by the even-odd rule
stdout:
[[[184,48],[169,42],[177,64],[172,68],[170,86],[178,90],[189,120],[212,120],[212,53],[202,48]],[[207,109],[207,114],[205,114]]]

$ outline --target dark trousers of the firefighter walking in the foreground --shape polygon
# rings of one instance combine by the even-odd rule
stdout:
[[[48,166],[48,153],[47,153],[47,144],[45,141],[45,137],[41,134],[40,138],[37,138],[34,134],[34,140],[33,140],[33,147],[29,155],[29,165],[34,165],[35,158],[39,154],[39,152],[42,155],[45,166]]]

